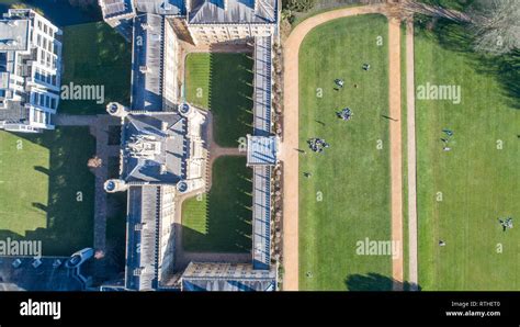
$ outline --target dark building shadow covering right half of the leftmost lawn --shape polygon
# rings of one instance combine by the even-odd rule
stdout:
[[[2,229],[0,238],[41,240],[44,256],[70,256],[81,248],[91,247],[94,176],[87,161],[95,153],[95,139],[88,127],[59,127],[42,134],[15,135],[22,142],[35,143],[49,151],[49,168],[34,167],[48,179],[47,204],[31,202],[31,192],[37,192],[37,189],[31,190],[32,183],[38,181],[26,180],[27,184],[23,185],[30,190],[27,201],[31,206],[45,213],[46,227],[26,230],[25,236]]]

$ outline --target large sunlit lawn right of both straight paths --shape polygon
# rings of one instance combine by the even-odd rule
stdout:
[[[505,89],[507,75],[494,71],[498,60],[484,65],[463,48],[441,46],[433,33],[416,33],[416,88],[454,84],[462,92],[460,104],[416,100],[419,284],[422,290],[520,290],[520,230],[502,232],[497,221],[520,219],[518,94]],[[448,32],[439,35],[456,47],[444,38]],[[442,150],[443,128],[454,133],[451,151]]]

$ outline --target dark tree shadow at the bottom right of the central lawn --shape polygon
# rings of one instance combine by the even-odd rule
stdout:
[[[368,274],[350,274],[344,280],[344,285],[349,291],[392,291],[395,280],[375,272]],[[415,284],[399,282],[404,291],[409,291]],[[420,291],[420,285],[416,285]]]

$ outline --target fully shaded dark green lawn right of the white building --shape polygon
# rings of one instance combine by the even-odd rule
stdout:
[[[104,102],[61,100],[59,113],[103,114],[111,101],[129,104],[132,45],[103,22],[64,29],[61,86],[102,86]]]

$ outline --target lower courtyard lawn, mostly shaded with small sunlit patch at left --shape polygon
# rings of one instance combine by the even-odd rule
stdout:
[[[245,157],[221,157],[213,164],[210,193],[182,205],[182,244],[186,251],[251,250],[252,170]]]

